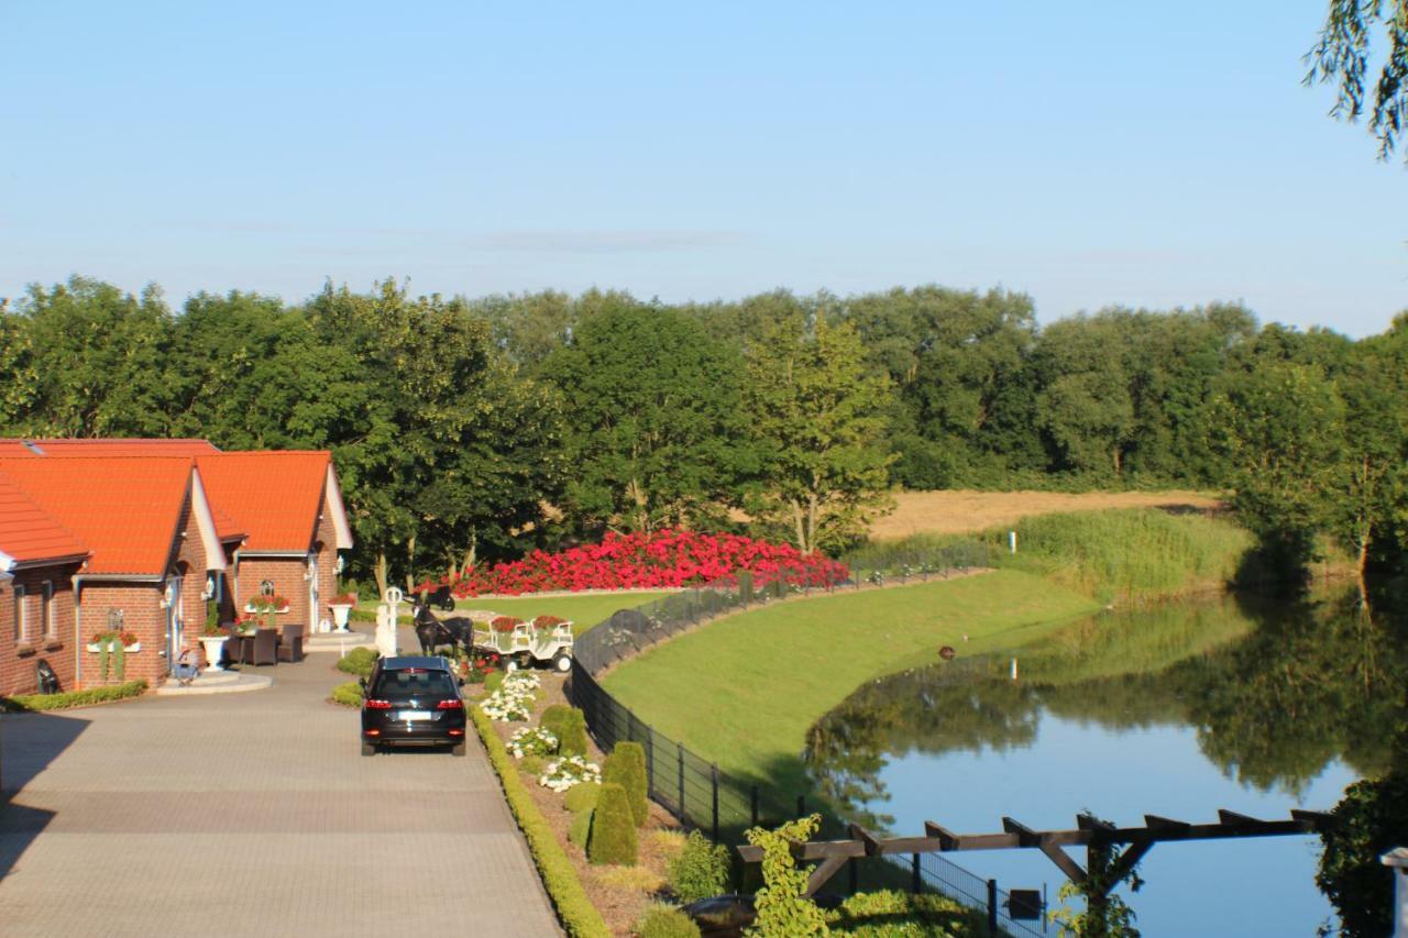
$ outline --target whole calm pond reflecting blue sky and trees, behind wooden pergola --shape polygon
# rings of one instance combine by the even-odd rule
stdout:
[[[897,835],[1329,810],[1387,766],[1408,680],[1393,623],[1357,593],[1107,613],[1017,649],[1015,682],[1008,656],[959,649],[869,684],[812,727],[807,761],[842,815]],[[1159,844],[1121,896],[1150,937],[1309,937],[1333,915],[1318,852],[1316,837]],[[1045,883],[1057,904],[1064,877],[1039,851],[948,856],[1002,889]]]

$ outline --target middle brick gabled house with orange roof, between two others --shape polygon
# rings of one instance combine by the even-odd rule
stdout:
[[[72,621],[68,628],[58,623],[58,638],[44,648],[68,656],[69,687],[115,683],[113,670],[101,673],[104,656],[90,642],[103,632],[127,634],[122,679],[155,686],[183,645],[201,654],[196,639],[206,596],[228,566],[238,524],[225,517],[225,531],[217,528],[190,455],[45,455],[0,456],[0,476],[86,548],[69,577]],[[55,614],[62,620],[62,610]]]

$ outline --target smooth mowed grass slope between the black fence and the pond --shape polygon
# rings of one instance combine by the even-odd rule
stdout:
[[[935,662],[941,645],[991,651],[1097,608],[1021,570],[838,593],[710,623],[603,683],[719,768],[788,784],[800,777],[807,728],[866,680]]]

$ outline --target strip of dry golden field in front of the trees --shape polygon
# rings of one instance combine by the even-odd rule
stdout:
[[[1169,508],[1209,511],[1222,501],[1198,492],[945,492],[895,493],[895,508],[870,525],[876,541],[914,534],[987,531],[1033,514],[1098,511],[1101,508]]]

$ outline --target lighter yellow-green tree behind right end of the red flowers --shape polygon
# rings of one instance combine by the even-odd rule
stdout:
[[[748,355],[748,411],[762,454],[752,508],[786,523],[804,552],[846,544],[888,501],[888,379],[866,366],[850,324],[818,320],[808,335],[791,317]]]

